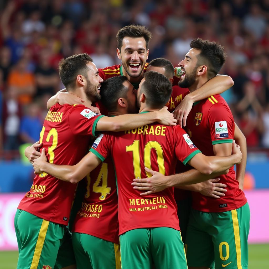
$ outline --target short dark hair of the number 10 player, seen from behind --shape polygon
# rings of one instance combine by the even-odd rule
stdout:
[[[146,72],[140,94],[146,96],[146,103],[152,108],[162,108],[172,94],[172,84],[168,78],[155,71]]]

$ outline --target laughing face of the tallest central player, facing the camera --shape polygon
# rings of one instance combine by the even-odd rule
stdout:
[[[140,77],[148,59],[148,49],[143,37],[124,37],[121,50],[117,49],[118,58],[130,77]]]

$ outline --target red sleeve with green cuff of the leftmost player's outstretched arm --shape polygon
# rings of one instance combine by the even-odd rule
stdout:
[[[96,114],[83,105],[77,105],[70,110],[68,121],[74,134],[97,136],[95,127],[102,117],[104,115]]]

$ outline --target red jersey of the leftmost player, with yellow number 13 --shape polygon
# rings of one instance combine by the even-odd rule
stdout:
[[[48,111],[40,133],[47,160],[75,165],[87,153],[91,136],[102,115],[84,105],[55,104]],[[18,208],[44,220],[68,225],[76,184],[42,173],[34,178]]]

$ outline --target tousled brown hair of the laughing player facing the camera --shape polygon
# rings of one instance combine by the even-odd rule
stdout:
[[[147,29],[146,26],[141,25],[127,25],[123,27],[121,30],[118,31],[116,38],[118,41],[118,49],[121,50],[122,47],[122,40],[125,37],[143,37],[146,41],[146,48],[148,49],[148,43],[151,40],[151,32]]]

